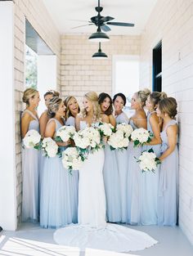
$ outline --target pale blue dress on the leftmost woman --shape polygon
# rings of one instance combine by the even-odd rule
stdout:
[[[28,130],[36,130],[39,132],[38,118],[29,110],[33,120],[29,123]],[[38,222],[38,160],[39,152],[35,149],[22,149],[22,221],[23,222]]]

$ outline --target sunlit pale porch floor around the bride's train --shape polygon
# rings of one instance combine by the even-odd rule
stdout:
[[[131,226],[128,226],[131,227]],[[159,243],[137,252],[125,255],[148,256],[192,256],[193,245],[186,239],[179,227],[141,226],[132,227],[145,231]],[[56,245],[53,240],[54,229],[43,229],[38,224],[22,223],[17,231],[2,231],[0,236],[1,256],[119,256],[124,254],[110,251],[87,249],[79,252],[79,248]]]

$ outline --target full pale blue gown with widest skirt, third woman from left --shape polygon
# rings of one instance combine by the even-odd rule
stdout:
[[[56,119],[56,131],[62,124]],[[60,150],[64,150],[63,147]],[[40,198],[40,226],[45,228],[64,227],[74,222],[74,199],[72,198],[72,177],[61,162],[61,158],[46,157],[43,164],[41,198]],[[74,182],[74,186],[76,186]],[[74,217],[75,216],[75,217]]]

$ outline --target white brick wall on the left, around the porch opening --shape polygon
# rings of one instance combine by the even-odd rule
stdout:
[[[20,222],[21,211],[21,146],[20,146],[20,110],[24,110],[22,93],[25,90],[25,17],[47,45],[57,56],[57,83],[61,85],[61,41],[42,0],[15,0],[15,98],[16,98],[16,175],[17,175],[17,217]]]

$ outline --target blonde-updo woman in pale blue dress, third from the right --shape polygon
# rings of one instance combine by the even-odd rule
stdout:
[[[147,128],[146,112],[144,106],[150,91],[148,89],[138,91],[132,96],[131,107],[135,110],[129,119],[133,129]],[[141,170],[134,157],[141,155],[141,146],[134,147],[133,143],[128,145],[128,191],[127,191],[127,222],[131,225],[141,223]]]

